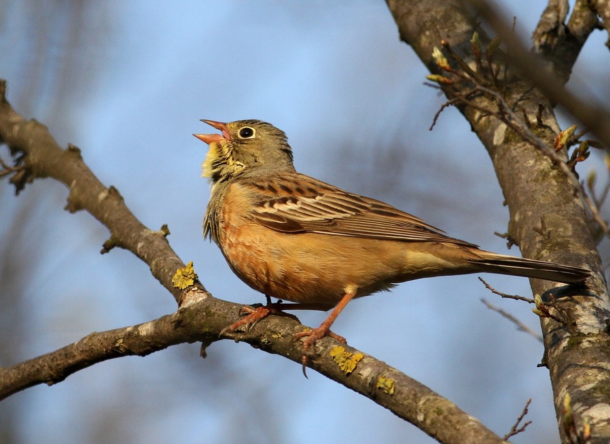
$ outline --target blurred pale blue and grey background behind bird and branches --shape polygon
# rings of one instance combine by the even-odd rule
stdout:
[[[523,40],[544,1],[504,0]],[[573,2],[570,2],[573,4]],[[595,32],[573,79],[610,101],[607,35]],[[213,295],[264,301],[201,237],[209,187],[200,177],[210,132],[201,118],[269,121],[289,136],[298,170],[390,202],[453,237],[519,255],[487,157],[455,109],[423,85],[382,1],[0,0],[0,78],[26,118],[73,143],[151,229],[167,223]],[[570,121],[562,120],[562,126]],[[6,147],[0,156],[9,160]],[[598,171],[601,155],[580,165]],[[37,180],[17,198],[0,184],[0,365],[141,323],[176,305],[131,253],[99,254],[109,233],[62,210],[66,188]],[[607,217],[608,210],[603,214]],[[608,259],[608,246],[601,245]],[[483,276],[506,293],[528,281]],[[350,345],[447,396],[500,435],[526,399],[533,424],[515,443],[558,441],[542,345],[487,309],[487,298],[539,331],[531,307],[491,295],[476,276],[401,284],[351,303],[334,325]],[[298,313],[317,326],[325,313]],[[0,403],[0,442],[429,443],[368,399],[246,344],[180,345],[103,362]]]

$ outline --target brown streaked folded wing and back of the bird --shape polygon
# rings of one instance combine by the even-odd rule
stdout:
[[[276,174],[273,179],[266,176],[242,184],[252,188],[254,220],[276,231],[476,246],[448,237],[389,204],[345,192],[304,174]]]

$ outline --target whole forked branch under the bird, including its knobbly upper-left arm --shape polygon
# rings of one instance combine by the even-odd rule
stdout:
[[[180,308],[148,323],[92,333],[65,346],[8,368],[0,368],[0,399],[36,384],[54,384],[97,362],[115,357],[146,354],[171,345],[218,340],[220,332],[237,320],[240,306],[213,298],[199,282],[185,290],[174,287],[172,278],[184,263],[171,249],[162,232],[143,226],[120,198],[117,190],[96,179],[74,147],[61,149],[46,127],[24,120],[5,99],[0,81],[0,141],[6,143],[21,167],[11,181],[19,192],[37,177],[53,177],[70,188],[66,209],[85,209],[110,230],[105,248],[121,246],[134,252],[151,267],[152,274],[167,288]],[[102,251],[103,252],[103,251]],[[300,342],[293,340],[304,327],[285,317],[270,317],[236,340],[301,363]],[[503,440],[483,424],[462,412],[448,399],[375,358],[324,338],[316,343],[317,354],[309,367],[390,409],[443,443],[500,443]]]

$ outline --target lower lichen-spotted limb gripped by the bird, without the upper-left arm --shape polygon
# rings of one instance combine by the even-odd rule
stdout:
[[[226,319],[237,313],[237,304],[210,298],[200,290],[189,295],[191,303],[171,315],[136,326],[91,333],[59,350],[0,368],[0,399],[36,384],[55,384],[97,362],[121,356],[146,356],[185,342],[206,345],[218,340]],[[223,313],[223,315],[218,315]],[[210,315],[211,314],[211,315]],[[268,353],[301,362],[297,321],[269,317],[246,334],[243,342]],[[361,393],[443,443],[502,443],[500,437],[462,412],[455,404],[374,357],[332,338],[317,342],[312,368],[333,381]]]

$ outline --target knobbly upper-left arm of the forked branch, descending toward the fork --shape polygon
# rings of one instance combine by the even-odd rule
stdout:
[[[66,210],[73,213],[86,209],[109,229],[110,238],[102,252],[113,246],[128,249],[148,263],[152,275],[179,301],[181,290],[174,287],[171,278],[185,265],[171,249],[166,232],[151,231],[138,221],[117,188],[104,186],[91,173],[78,148],[70,145],[62,149],[46,126],[25,120],[12,109],[5,91],[6,82],[0,81],[0,142],[9,146],[13,156],[19,156],[22,167],[10,179],[16,193],[37,177],[53,177],[62,182],[70,189]]]

